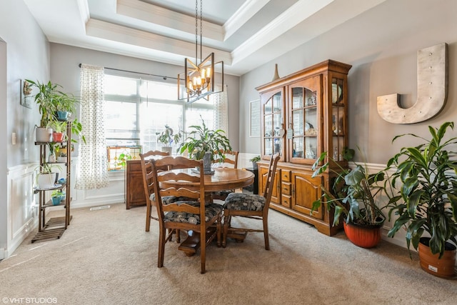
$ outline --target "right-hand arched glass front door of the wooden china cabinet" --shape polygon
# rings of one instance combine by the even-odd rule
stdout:
[[[316,76],[289,86],[291,108],[287,138],[291,140],[289,158],[292,162],[313,164],[321,154],[318,80]]]

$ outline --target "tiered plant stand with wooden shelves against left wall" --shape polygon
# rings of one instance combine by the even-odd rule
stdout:
[[[66,147],[71,147],[71,121],[67,121],[66,123],[66,139],[63,142],[35,142],[36,146],[40,147],[40,167],[44,165],[49,165],[53,167],[53,165],[59,165],[60,167],[65,167],[65,176],[59,176],[60,181],[54,181],[54,186],[46,187],[45,189],[39,189],[38,186],[34,187],[34,194],[38,194],[38,204],[39,204],[39,225],[38,225],[38,233],[31,239],[31,242],[34,243],[35,241],[42,241],[47,239],[60,239],[64,231],[66,230],[67,226],[70,224],[71,215],[70,215],[70,202],[71,202],[71,194],[70,194],[70,183],[71,183],[71,154],[66,154],[66,159],[62,160],[61,162],[55,161],[55,159],[50,160],[47,148],[49,148],[50,144],[56,145],[63,145]],[[63,178],[63,179],[62,179]],[[59,204],[53,204],[51,199],[49,199],[49,193],[52,191],[61,190],[65,191],[65,197],[62,199]],[[58,216],[54,218],[50,218],[46,220],[46,209],[52,206],[61,206],[63,207],[63,211],[61,214],[63,216]]]

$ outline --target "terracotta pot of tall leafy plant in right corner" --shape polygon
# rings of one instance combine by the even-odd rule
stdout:
[[[456,275],[456,246],[446,243],[446,250],[443,257],[438,259],[439,253],[432,254],[428,247],[429,237],[421,237],[419,239],[419,261],[421,268],[434,276],[451,278]],[[449,249],[449,250],[448,250]]]

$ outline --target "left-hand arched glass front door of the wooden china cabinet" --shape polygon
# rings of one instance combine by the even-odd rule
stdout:
[[[279,153],[283,161],[284,147],[284,111],[283,90],[275,91],[273,95],[263,96],[263,156]]]

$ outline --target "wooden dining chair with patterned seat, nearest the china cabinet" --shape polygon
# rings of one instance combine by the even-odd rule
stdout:
[[[262,195],[231,193],[227,196],[224,203],[224,234],[222,237],[222,246],[226,246],[227,237],[230,234],[237,236],[237,232],[263,232],[265,239],[265,249],[270,249],[268,239],[268,210],[271,201],[271,192],[273,191],[274,176],[276,166],[278,165],[279,154],[273,154],[268,164],[268,174],[265,188]],[[231,226],[232,216],[242,216],[251,219],[260,219],[263,221],[263,229],[234,228]]]

